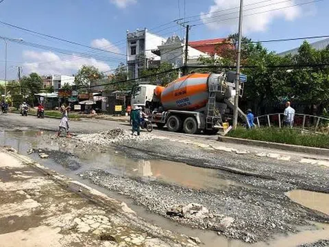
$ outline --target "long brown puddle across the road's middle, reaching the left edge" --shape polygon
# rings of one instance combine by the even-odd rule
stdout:
[[[61,149],[56,143],[56,139],[51,140],[50,143],[45,143],[43,139],[38,138],[42,134],[54,133],[42,131],[0,132],[0,143],[2,145],[11,145],[22,154],[26,154],[29,148],[47,148],[56,151]],[[134,160],[114,150],[112,152],[99,153],[86,152],[75,147],[66,147],[62,151],[72,152],[80,157],[79,163],[82,163],[82,166],[79,169],[73,169],[75,174],[82,173],[88,169],[103,169],[117,176],[158,180],[162,183],[173,183],[193,189],[224,189],[229,186],[245,186],[234,180],[219,178],[217,169],[193,167],[185,163],[163,160]],[[37,155],[34,154],[33,158],[37,158]],[[63,159],[67,159],[67,157],[63,156]],[[49,168],[56,169],[51,163],[47,161],[44,161],[44,163],[48,167],[50,166]],[[67,168],[70,169],[69,167]]]

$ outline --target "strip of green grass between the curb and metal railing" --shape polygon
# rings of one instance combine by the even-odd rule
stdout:
[[[315,148],[329,148],[328,135],[302,133],[301,130],[290,128],[254,128],[252,130],[236,128],[236,130],[228,132],[227,136]]]

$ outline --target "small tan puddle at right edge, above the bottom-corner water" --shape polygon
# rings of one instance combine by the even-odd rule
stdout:
[[[329,194],[295,189],[286,196],[304,207],[329,215]]]

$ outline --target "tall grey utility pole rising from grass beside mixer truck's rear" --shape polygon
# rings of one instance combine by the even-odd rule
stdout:
[[[233,128],[238,124],[239,116],[239,95],[240,95],[240,60],[241,60],[241,38],[242,38],[242,24],[243,24],[243,0],[240,0],[240,15],[239,15],[239,41],[238,49],[236,51],[236,78],[235,78],[235,97],[234,97],[234,115]]]

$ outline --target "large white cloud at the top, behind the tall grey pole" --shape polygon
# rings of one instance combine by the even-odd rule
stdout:
[[[220,30],[227,28],[230,32],[237,32],[239,19],[239,0],[214,0],[215,4],[211,5],[209,12],[202,12],[201,19],[211,30]],[[244,5],[243,32],[264,32],[269,27],[273,19],[285,19],[293,21],[301,15],[302,10],[298,6],[285,8],[295,5],[295,0],[270,0],[261,3],[259,0],[246,0]],[[233,10],[228,10],[235,8]],[[276,10],[282,8],[280,10]],[[227,10],[227,11],[223,11]],[[273,10],[273,11],[271,11]],[[262,13],[260,13],[262,12]],[[260,14],[255,14],[260,13]],[[211,19],[209,19],[211,18]],[[228,20],[226,20],[228,19]],[[218,22],[215,22],[215,21]],[[226,20],[226,21],[224,21]]]

